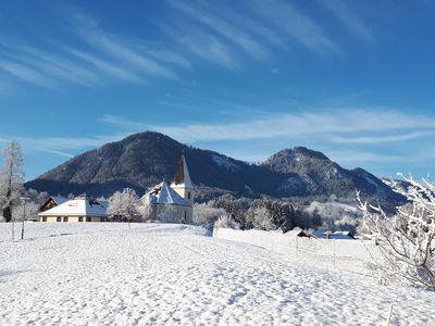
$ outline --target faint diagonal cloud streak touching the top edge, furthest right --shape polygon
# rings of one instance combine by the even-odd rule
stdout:
[[[332,12],[347,28],[365,40],[374,40],[373,33],[362,21],[358,13],[349,5],[349,1],[319,0],[319,2]]]

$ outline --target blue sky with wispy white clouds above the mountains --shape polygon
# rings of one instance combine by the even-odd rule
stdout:
[[[0,148],[26,179],[145,130],[261,162],[435,172],[435,3],[2,1]]]

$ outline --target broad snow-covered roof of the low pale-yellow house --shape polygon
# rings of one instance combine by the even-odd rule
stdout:
[[[108,204],[86,198],[69,200],[55,208],[39,213],[39,216],[105,216]]]

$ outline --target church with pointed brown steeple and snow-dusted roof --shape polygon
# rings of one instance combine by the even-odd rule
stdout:
[[[174,181],[163,180],[142,197],[150,206],[149,220],[166,223],[191,223],[194,186],[184,154],[179,158]]]

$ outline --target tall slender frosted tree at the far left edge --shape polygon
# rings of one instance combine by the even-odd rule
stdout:
[[[0,171],[0,208],[5,222],[12,220],[12,209],[20,202],[23,190],[23,153],[16,141],[4,150],[4,166]]]

